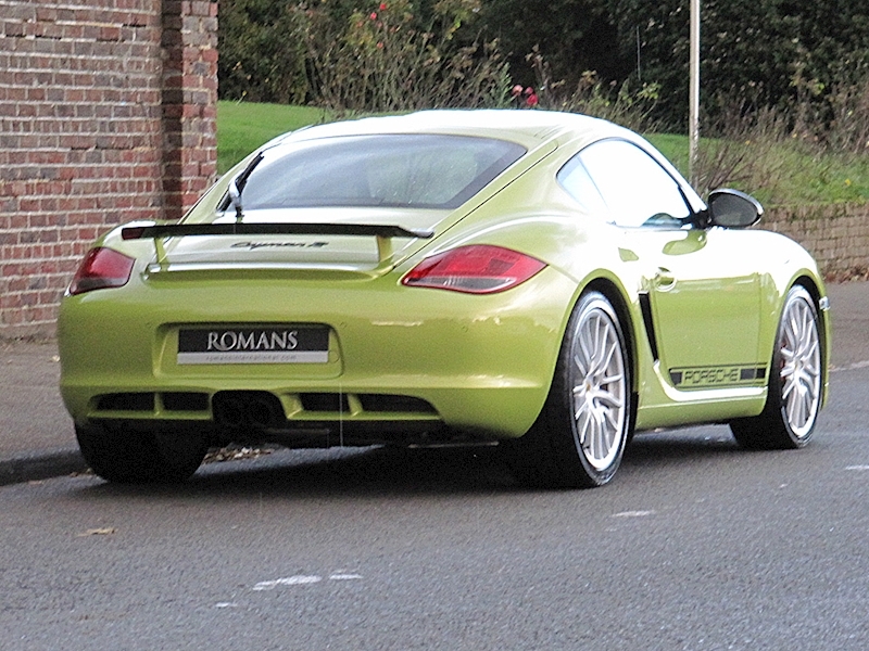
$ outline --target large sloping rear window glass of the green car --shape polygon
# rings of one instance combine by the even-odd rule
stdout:
[[[244,209],[317,206],[455,208],[525,154],[464,136],[328,138],[278,145],[242,186]]]

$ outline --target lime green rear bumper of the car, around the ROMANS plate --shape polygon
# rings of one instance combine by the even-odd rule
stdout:
[[[78,424],[221,431],[222,396],[262,392],[279,405],[279,422],[262,429],[276,436],[392,430],[501,438],[531,426],[571,306],[567,279],[545,269],[489,296],[388,277],[347,284],[139,281],[67,297],[58,328],[66,408]],[[178,363],[180,328],[251,323],[326,326],[328,361]]]

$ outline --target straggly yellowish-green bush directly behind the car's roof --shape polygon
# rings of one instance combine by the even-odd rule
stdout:
[[[349,17],[299,5],[314,101],[336,111],[499,106],[509,75],[498,41],[467,42],[479,0],[440,0],[424,23],[407,0]]]

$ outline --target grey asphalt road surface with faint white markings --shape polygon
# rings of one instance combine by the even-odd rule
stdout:
[[[869,367],[816,439],[638,436],[614,482],[486,449],[285,451],[177,487],[0,488],[0,648],[869,648]]]

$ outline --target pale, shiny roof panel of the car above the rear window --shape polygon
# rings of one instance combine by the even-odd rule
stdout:
[[[528,149],[563,136],[589,142],[602,138],[637,139],[613,123],[577,113],[538,110],[436,110],[343,120],[306,127],[269,144],[341,136],[380,133],[437,133],[511,140]]]

